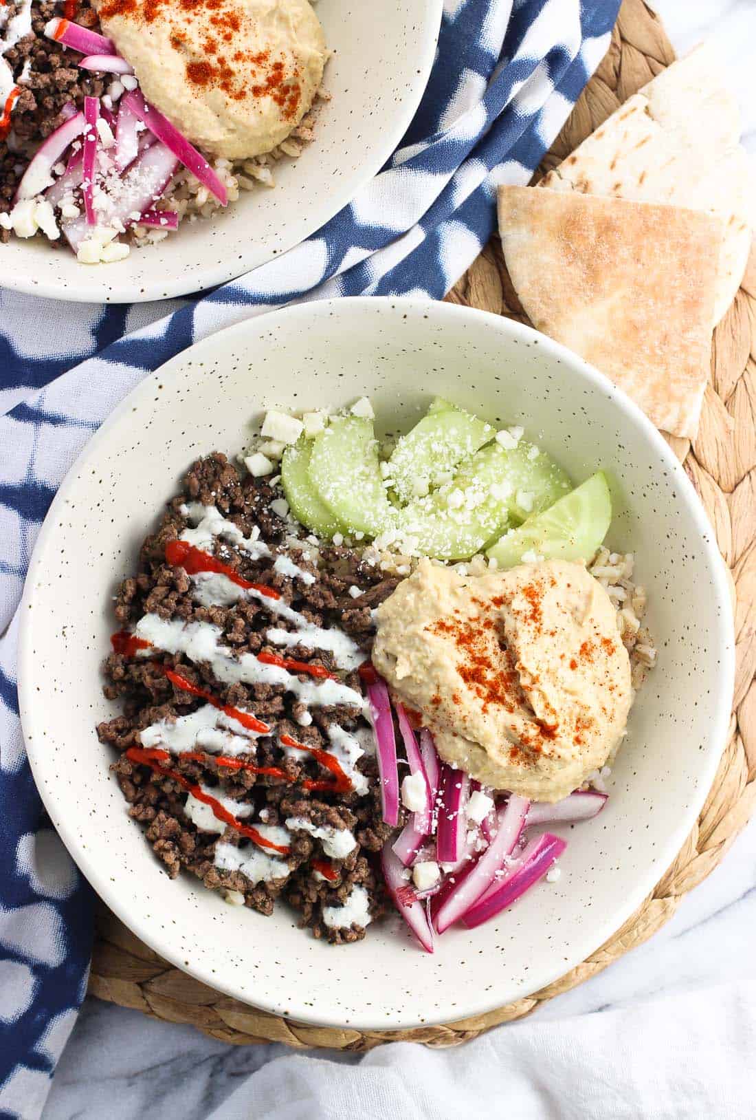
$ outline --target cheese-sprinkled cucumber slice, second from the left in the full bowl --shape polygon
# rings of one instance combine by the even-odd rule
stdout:
[[[391,521],[371,420],[333,420],[315,437],[309,473],[321,502],[352,532],[377,536]]]

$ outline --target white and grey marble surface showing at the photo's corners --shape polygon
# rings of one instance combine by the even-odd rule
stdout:
[[[655,8],[679,53],[706,37],[718,41],[740,100],[747,147],[756,151],[756,0],[656,0]],[[536,1014],[556,1019],[686,989],[703,993],[741,974],[744,961],[753,959],[754,928],[756,820],[651,942]],[[60,1061],[44,1120],[103,1120],[103,1100],[108,1120],[141,1120],[155,1105],[161,1120],[204,1120],[244,1077],[283,1053],[282,1046],[226,1046],[191,1028],[89,999]]]

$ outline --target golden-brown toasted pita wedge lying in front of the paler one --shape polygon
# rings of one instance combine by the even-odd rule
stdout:
[[[576,192],[499,188],[509,274],[538,330],[692,438],[709,376],[721,221]]]

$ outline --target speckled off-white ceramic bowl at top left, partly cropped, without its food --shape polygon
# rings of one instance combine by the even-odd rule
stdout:
[[[274,189],[242,192],[209,221],[186,223],[114,264],[79,264],[41,239],[0,245],[2,284],[55,299],[123,304],[202,291],[285,253],[353,198],[389,158],[433,63],[442,0],[320,0],[333,57],[312,142],[275,168]]]

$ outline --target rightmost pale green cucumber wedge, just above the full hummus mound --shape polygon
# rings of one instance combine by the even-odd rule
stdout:
[[[602,470],[570,494],[512,529],[490,548],[488,557],[500,568],[513,568],[523,554],[545,560],[592,559],[612,521],[612,498]]]

